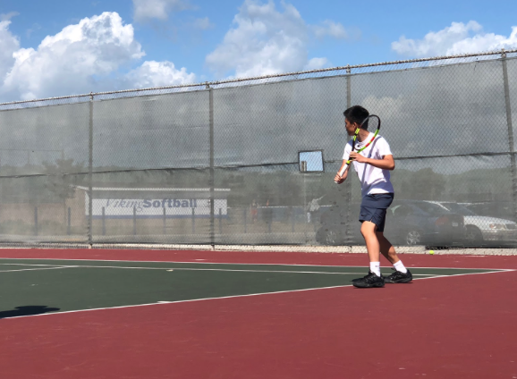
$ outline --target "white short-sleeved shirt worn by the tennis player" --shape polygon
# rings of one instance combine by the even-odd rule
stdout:
[[[366,145],[373,135],[373,133],[369,133],[369,136],[362,142],[356,141],[355,151]],[[352,140],[348,141],[344,147],[343,160],[348,161],[351,152]],[[362,150],[359,154],[361,156],[366,156],[367,158],[383,159],[384,156],[391,156],[392,152],[386,139],[377,135],[377,138],[371,143],[371,145]],[[359,176],[363,198],[375,193],[394,193],[394,186],[390,181],[389,170],[383,170],[381,168],[374,167],[371,164],[360,164],[355,161],[353,162],[353,167]]]

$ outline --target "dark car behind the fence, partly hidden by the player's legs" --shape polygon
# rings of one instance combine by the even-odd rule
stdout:
[[[350,208],[350,220],[347,212]],[[321,215],[316,239],[323,245],[364,243],[358,220],[360,206],[334,206]],[[350,227],[347,227],[350,225]],[[386,237],[397,245],[450,246],[465,237],[463,216],[419,200],[395,200],[386,214]]]

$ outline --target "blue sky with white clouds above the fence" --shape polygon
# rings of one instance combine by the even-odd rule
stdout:
[[[0,102],[503,47],[508,0],[1,0]]]

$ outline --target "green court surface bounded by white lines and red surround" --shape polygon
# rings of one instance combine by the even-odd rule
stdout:
[[[0,318],[350,286],[366,271],[362,266],[0,259]],[[411,268],[415,280],[500,271],[506,270]]]

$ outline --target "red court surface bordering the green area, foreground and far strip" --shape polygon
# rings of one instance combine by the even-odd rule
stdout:
[[[366,254],[272,252],[5,249],[0,257],[368,264]],[[402,259],[517,269],[517,257]],[[5,318],[0,367],[2,377],[23,379],[517,378],[516,279],[514,271],[468,274]]]

